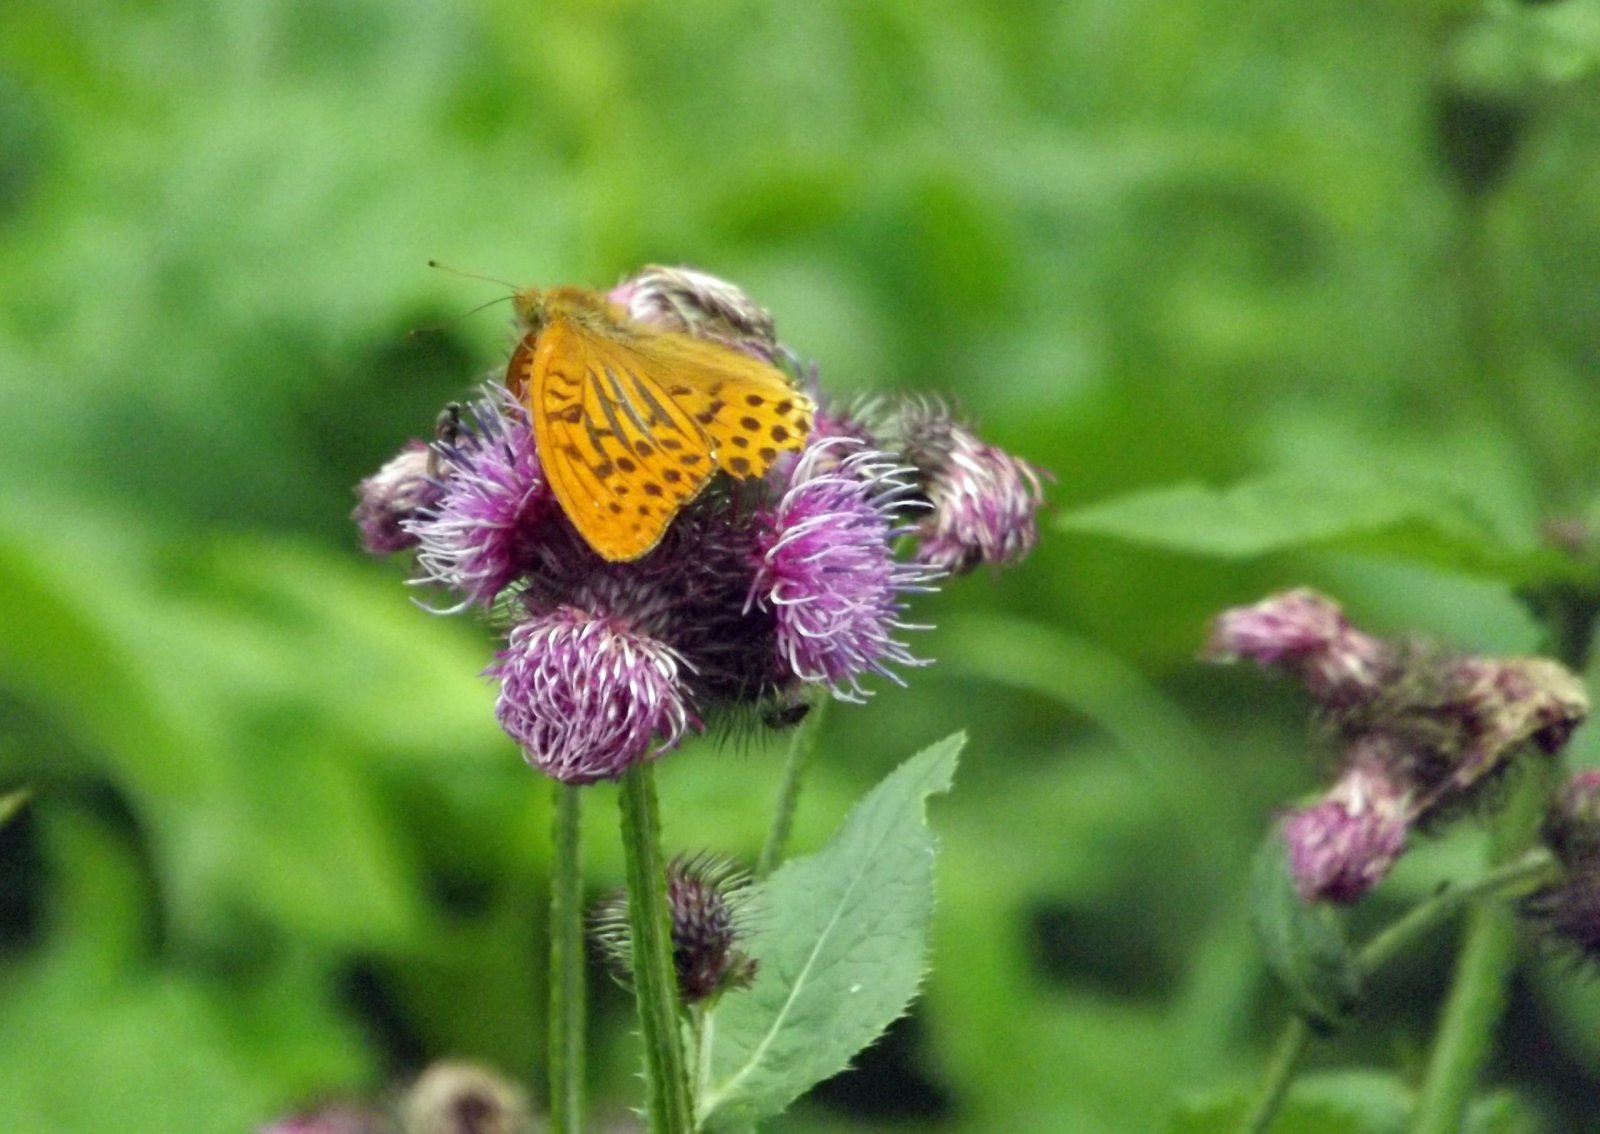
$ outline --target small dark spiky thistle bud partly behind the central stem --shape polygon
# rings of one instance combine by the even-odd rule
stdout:
[[[747,932],[750,875],[714,854],[678,856],[667,864],[672,968],[678,992],[699,1004],[755,980],[755,958],[739,948]],[[627,894],[613,894],[590,918],[595,944],[622,979],[630,979],[634,945]]]

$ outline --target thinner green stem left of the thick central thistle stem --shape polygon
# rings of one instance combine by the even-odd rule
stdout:
[[[581,1134],[584,1115],[582,789],[555,784],[550,819],[550,1132]]]

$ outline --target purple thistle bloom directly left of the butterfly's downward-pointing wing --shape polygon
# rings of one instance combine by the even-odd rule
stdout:
[[[461,606],[491,605],[522,574],[550,499],[533,449],[528,411],[494,387],[474,403],[454,438],[434,443],[443,491],[434,510],[405,528],[424,577],[461,593]]]

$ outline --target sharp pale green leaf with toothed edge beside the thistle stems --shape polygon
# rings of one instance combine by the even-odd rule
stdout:
[[[736,1131],[779,1113],[906,1011],[933,912],[925,800],[949,790],[965,742],[955,734],[907,760],[822,851],[762,886],[760,974],[709,1016],[701,1124]]]

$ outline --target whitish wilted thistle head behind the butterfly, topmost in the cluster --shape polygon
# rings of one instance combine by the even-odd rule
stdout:
[[[726,342],[766,361],[779,353],[771,313],[741,288],[707,272],[651,264],[606,297],[646,326]]]

